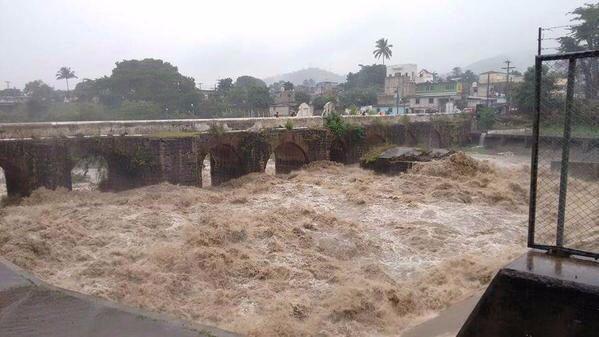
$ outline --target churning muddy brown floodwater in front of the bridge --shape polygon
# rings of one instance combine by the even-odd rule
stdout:
[[[41,189],[0,208],[0,254],[249,336],[395,336],[524,251],[527,186],[523,165],[458,153],[395,177],[315,162],[206,189]]]

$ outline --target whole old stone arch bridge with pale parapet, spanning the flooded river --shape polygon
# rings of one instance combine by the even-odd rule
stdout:
[[[124,190],[169,182],[202,186],[202,167],[210,155],[212,184],[251,172],[264,172],[275,155],[277,173],[318,160],[355,163],[381,143],[447,147],[467,141],[470,121],[363,117],[364,137],[337,137],[321,118],[292,119],[293,129],[264,118],[195,121],[0,124],[0,167],[9,196],[27,196],[39,187],[72,187],[71,170],[81,158],[102,157],[108,164],[104,187]],[[113,124],[111,124],[113,123]],[[129,124],[127,124],[129,123]],[[271,123],[271,124],[269,124]],[[258,126],[256,126],[259,124]],[[115,133],[117,131],[118,133]]]

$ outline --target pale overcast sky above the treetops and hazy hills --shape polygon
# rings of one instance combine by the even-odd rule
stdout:
[[[538,26],[569,23],[590,0],[0,0],[0,86],[59,67],[79,78],[109,75],[124,59],[161,58],[204,87],[223,77],[267,77],[306,67],[339,74],[374,63],[443,73],[498,54],[533,57]]]

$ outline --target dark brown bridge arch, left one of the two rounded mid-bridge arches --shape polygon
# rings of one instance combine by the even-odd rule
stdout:
[[[244,174],[241,156],[232,145],[217,144],[210,149],[209,153],[212,186],[218,186]]]

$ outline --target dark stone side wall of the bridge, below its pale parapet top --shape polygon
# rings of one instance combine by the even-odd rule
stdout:
[[[468,121],[455,125],[444,121],[407,125],[377,122],[364,126],[363,138],[337,138],[320,127],[0,140],[0,167],[10,196],[27,196],[39,187],[70,189],[72,169],[90,156],[101,157],[108,164],[108,177],[102,184],[106,189],[118,191],[160,182],[202,186],[202,163],[210,154],[212,184],[218,185],[263,172],[273,153],[277,172],[288,173],[318,160],[355,163],[382,143],[448,146],[467,138],[467,125]]]

